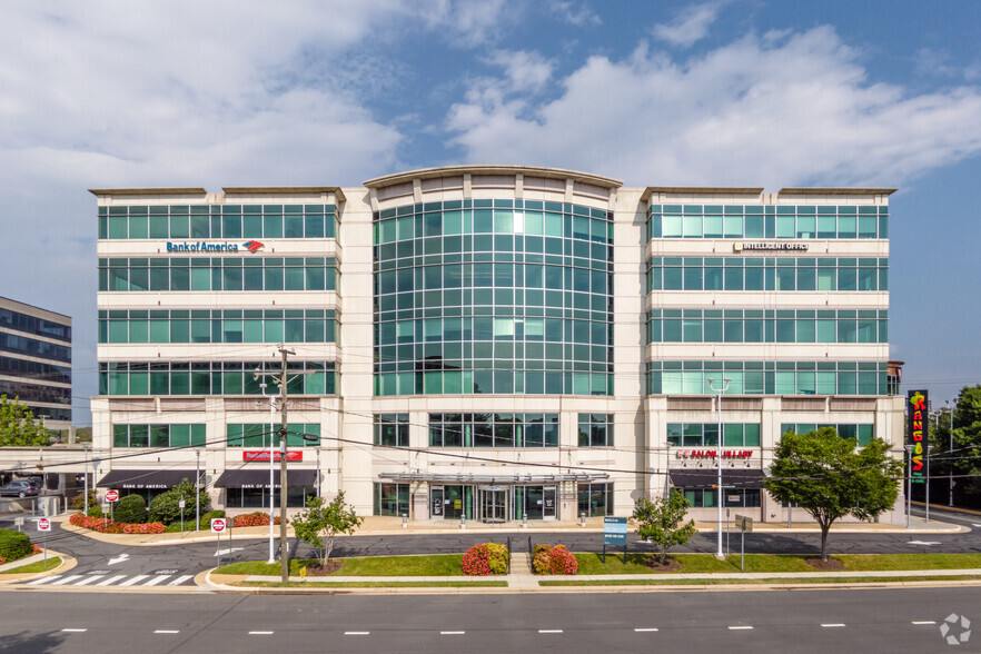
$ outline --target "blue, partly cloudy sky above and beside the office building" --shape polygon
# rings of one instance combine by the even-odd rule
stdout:
[[[73,319],[98,393],[89,188],[357,186],[454,164],[627,186],[874,186],[890,356],[981,383],[981,4],[0,0],[0,295]]]

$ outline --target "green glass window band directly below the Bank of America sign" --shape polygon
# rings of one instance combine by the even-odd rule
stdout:
[[[335,290],[334,257],[99,259],[99,290]]]

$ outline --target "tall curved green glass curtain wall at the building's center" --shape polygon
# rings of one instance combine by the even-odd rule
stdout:
[[[456,200],[374,227],[375,395],[613,394],[607,211]]]

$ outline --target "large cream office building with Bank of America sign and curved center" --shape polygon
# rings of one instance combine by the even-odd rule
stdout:
[[[103,487],[200,474],[217,506],[268,506],[280,344],[293,506],[344,490],[363,514],[575,519],[675,487],[696,517],[781,521],[762,485],[786,429],[902,452],[892,189],[456,166],[92,192],[95,447],[137,455],[105,457]]]

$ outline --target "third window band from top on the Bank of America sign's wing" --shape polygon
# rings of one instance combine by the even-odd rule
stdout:
[[[334,343],[339,333],[334,309],[99,311],[99,343]]]

